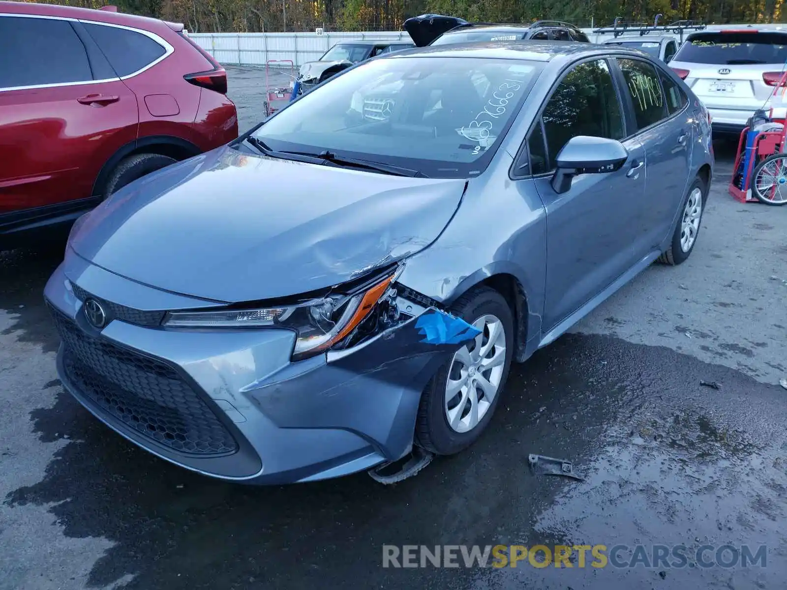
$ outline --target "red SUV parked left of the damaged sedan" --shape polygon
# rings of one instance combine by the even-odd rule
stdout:
[[[0,2],[0,249],[238,137],[227,72],[183,24]]]

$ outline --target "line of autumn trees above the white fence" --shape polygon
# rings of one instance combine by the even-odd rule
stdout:
[[[35,0],[24,0],[35,1]],[[701,20],[708,24],[784,22],[784,0],[47,0],[181,22],[192,32],[398,31],[408,17],[449,14],[475,22],[567,20],[580,27],[615,17],[652,23]]]

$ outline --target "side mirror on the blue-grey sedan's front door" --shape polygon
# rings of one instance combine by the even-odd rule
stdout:
[[[552,188],[563,194],[579,174],[604,174],[619,170],[629,157],[628,150],[616,139],[577,135],[557,154],[557,169]]]

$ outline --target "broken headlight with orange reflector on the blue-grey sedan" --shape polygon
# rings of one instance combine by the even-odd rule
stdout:
[[[169,312],[164,326],[173,328],[278,327],[297,334],[293,360],[305,359],[329,348],[347,348],[389,325],[398,317],[390,304],[392,271],[349,293],[271,308],[222,309],[205,312]]]

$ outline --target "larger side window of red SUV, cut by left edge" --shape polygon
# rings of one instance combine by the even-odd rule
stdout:
[[[85,46],[68,20],[0,17],[0,87],[92,79]]]

